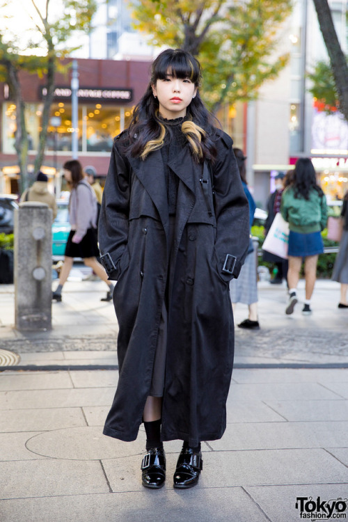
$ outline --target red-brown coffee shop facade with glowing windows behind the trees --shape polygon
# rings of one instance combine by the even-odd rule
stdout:
[[[69,65],[66,61],[65,65]],[[108,171],[113,138],[128,126],[134,105],[148,85],[150,62],[78,59],[78,155],[83,166],[93,165],[100,177]],[[42,171],[50,184],[60,182],[63,163],[72,157],[71,68],[57,74],[47,148]],[[44,80],[22,74],[29,132],[29,172],[38,147],[45,97]],[[18,193],[19,169],[15,155],[16,106],[0,89],[0,193]],[[35,175],[35,173],[34,173]]]

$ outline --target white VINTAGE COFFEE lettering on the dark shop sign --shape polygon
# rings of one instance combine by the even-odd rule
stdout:
[[[54,100],[71,100],[72,90],[70,87],[57,86],[54,90]],[[40,99],[47,95],[47,88],[40,86]],[[132,89],[114,89],[114,88],[95,88],[95,87],[81,87],[77,90],[77,97],[81,102],[132,102]]]

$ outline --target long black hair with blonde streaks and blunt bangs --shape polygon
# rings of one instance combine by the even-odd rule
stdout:
[[[133,157],[145,159],[152,150],[164,144],[166,126],[159,115],[159,101],[154,97],[152,86],[158,79],[165,79],[168,72],[175,78],[189,78],[196,88],[202,77],[199,62],[189,52],[182,49],[166,49],[152,63],[150,82],[145,94],[136,105],[133,118],[127,130],[129,139],[126,152]],[[187,113],[182,123],[182,132],[186,136],[193,158],[200,163],[204,159],[214,161],[216,118],[205,108],[197,90],[196,96],[187,106]]]

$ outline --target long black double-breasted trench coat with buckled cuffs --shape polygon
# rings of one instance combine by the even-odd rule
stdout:
[[[118,136],[119,138],[119,136]],[[169,280],[168,343],[161,438],[221,438],[234,351],[229,280],[249,242],[248,202],[232,140],[219,131],[209,187],[209,216],[189,148],[169,167],[179,178],[174,246],[168,245],[168,200],[161,151],[127,158],[115,139],[100,213],[99,241],[119,324],[119,381],[104,434],[133,441],[150,390],[161,307]],[[168,252],[171,251],[169,260]],[[235,256],[232,273],[223,271]],[[228,258],[228,265],[233,258]],[[168,273],[168,266],[172,267]]]

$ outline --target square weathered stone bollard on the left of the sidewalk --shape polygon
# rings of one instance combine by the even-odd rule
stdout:
[[[52,210],[20,203],[15,211],[15,327],[52,329]]]

